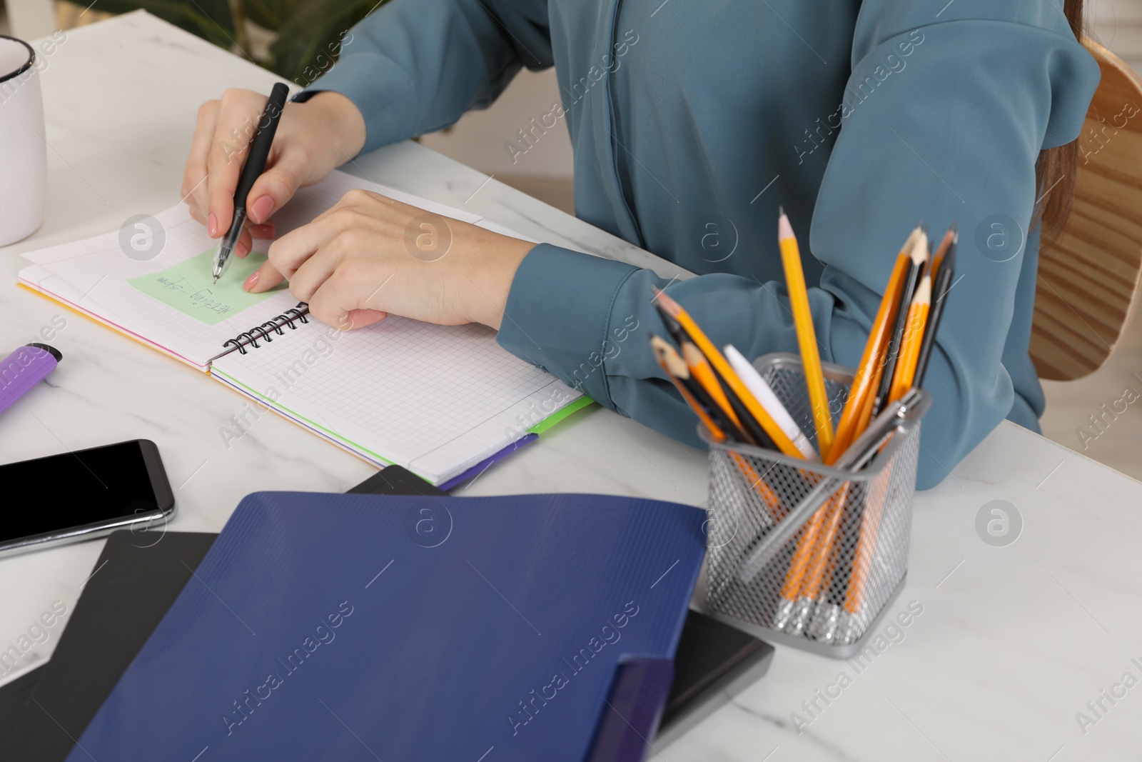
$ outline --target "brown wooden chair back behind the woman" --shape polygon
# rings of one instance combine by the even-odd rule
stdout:
[[[1079,136],[1070,217],[1039,251],[1031,360],[1042,378],[1094,372],[1142,297],[1142,79],[1085,40],[1102,81]]]

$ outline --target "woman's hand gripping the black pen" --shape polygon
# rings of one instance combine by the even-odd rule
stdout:
[[[206,225],[211,238],[222,238],[230,230],[234,189],[265,107],[265,95],[231,89],[199,109],[180,194],[191,216]],[[249,254],[251,232],[273,238],[270,215],[299,187],[316,183],[356,155],[364,137],[364,118],[339,93],[319,93],[306,103],[287,104],[266,170],[250,189],[247,212],[251,224],[242,231],[235,254]]]

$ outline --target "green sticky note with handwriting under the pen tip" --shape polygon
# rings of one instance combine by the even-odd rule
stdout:
[[[244,259],[230,258],[217,283],[214,280],[214,249],[171,265],[150,275],[127,281],[147,296],[153,296],[179,312],[185,312],[207,326],[217,326],[226,318],[254,306],[284,284],[264,294],[242,290],[242,283],[257,270],[266,255],[250,252]]]

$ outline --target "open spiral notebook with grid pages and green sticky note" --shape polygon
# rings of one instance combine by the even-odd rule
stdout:
[[[278,234],[354,187],[492,226],[477,215],[332,173],[274,216]],[[180,204],[112,233],[26,254],[33,264],[21,270],[19,282],[378,466],[395,463],[434,484],[589,403],[500,347],[496,331],[483,326],[391,316],[341,332],[309,316],[284,288],[246,294],[242,274],[264,257],[265,241],[255,241],[247,260],[232,262],[215,287],[209,264],[216,243]]]

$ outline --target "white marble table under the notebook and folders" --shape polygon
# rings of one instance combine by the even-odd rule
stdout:
[[[152,439],[176,488],[171,529],[180,531],[217,531],[254,490],[341,491],[370,474],[363,462],[272,415],[227,449],[219,430],[241,411],[242,398],[15,287],[21,251],[114,230],[175,203],[198,104],[231,86],[267,91],[272,81],[144,14],[67,32],[43,75],[47,218],[31,239],[0,249],[0,347],[31,340],[62,315],[66,327],[53,343],[65,361],[48,385],[0,417],[0,462]],[[536,238],[637,255],[496,181],[480,187],[478,173],[412,143],[357,163],[377,182],[455,206],[467,200]],[[698,505],[705,479],[702,454],[595,408],[458,494],[576,490]],[[978,511],[995,499],[1016,506],[1023,520],[1006,547],[986,544],[974,528]],[[1126,672],[1142,680],[1140,545],[1142,484],[1004,424],[943,484],[917,497],[908,585],[891,613],[910,601],[923,612],[896,642],[863,666],[779,647],[764,680],[654,759],[1137,760],[1142,684],[1120,681]],[[0,649],[54,601],[74,603],[100,546],[0,561]],[[57,636],[35,656],[47,657]],[[1125,695],[1111,704],[1103,689]],[[833,693],[828,704],[818,690]],[[811,715],[802,703],[814,700]],[[801,733],[795,712],[810,722]],[[1080,728],[1078,712],[1094,722]]]

